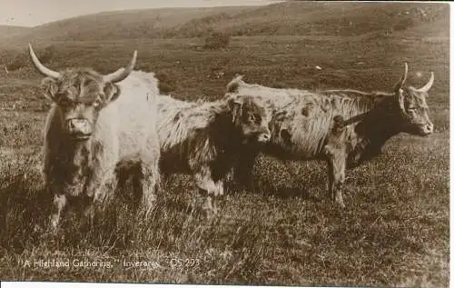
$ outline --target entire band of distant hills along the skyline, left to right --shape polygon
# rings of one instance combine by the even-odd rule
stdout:
[[[449,37],[449,5],[291,1],[266,6],[162,8],[84,15],[36,26],[2,43],[109,41],[231,35],[406,35]],[[0,43],[0,45],[2,45]]]

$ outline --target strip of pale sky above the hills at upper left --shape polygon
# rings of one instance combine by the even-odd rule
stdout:
[[[124,9],[267,5],[269,0],[0,0],[0,25],[35,26],[78,15]]]

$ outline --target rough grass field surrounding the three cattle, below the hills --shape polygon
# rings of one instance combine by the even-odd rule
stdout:
[[[196,190],[188,177],[175,175],[150,221],[118,203],[93,225],[68,217],[53,237],[45,230],[50,198],[39,175],[46,108],[39,76],[30,68],[0,74],[0,279],[448,286],[449,39],[234,37],[222,51],[194,50],[197,41],[55,42],[48,65],[90,65],[105,73],[137,48],[138,68],[167,74],[173,96],[216,99],[236,73],[280,87],[390,90],[407,61],[410,84],[425,84],[435,73],[428,99],[435,134],[400,134],[380,157],[348,172],[345,210],[332,207],[322,164],[262,156],[256,189],[230,189],[215,222],[192,209]],[[215,71],[224,74],[216,78]],[[52,259],[112,267],[33,264]],[[135,260],[153,265],[123,266]]]

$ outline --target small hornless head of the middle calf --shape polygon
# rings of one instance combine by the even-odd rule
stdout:
[[[232,111],[232,122],[239,128],[244,143],[270,141],[270,116],[251,96],[237,95],[229,99],[228,104]]]

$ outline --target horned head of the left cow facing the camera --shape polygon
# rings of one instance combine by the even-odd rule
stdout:
[[[56,72],[38,60],[31,45],[29,53],[36,70],[46,76],[42,83],[44,95],[56,105],[63,133],[74,141],[86,141],[93,134],[99,112],[120,95],[115,83],[131,74],[137,56],[134,51],[128,66],[103,75],[87,68]]]

